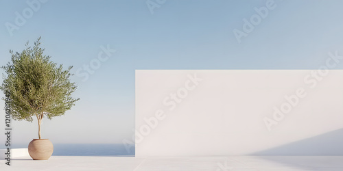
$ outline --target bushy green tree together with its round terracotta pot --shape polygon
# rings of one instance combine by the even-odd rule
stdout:
[[[32,159],[47,160],[51,157],[54,146],[49,139],[42,139],[40,126],[43,118],[62,116],[71,109],[79,98],[73,98],[77,86],[70,81],[71,68],[63,69],[50,61],[50,56],[43,55],[45,49],[40,48],[40,38],[34,42],[34,47],[25,44],[21,53],[13,53],[11,61],[6,66],[3,83],[0,89],[10,91],[11,111],[14,120],[38,120],[38,139],[29,143],[29,155]]]

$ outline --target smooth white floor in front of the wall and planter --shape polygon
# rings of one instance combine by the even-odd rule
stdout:
[[[0,160],[0,170],[323,170],[342,171],[343,156],[234,156],[234,157],[75,157],[53,156],[48,161],[29,157]]]

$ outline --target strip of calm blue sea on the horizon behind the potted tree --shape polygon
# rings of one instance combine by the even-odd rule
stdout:
[[[14,144],[12,148],[27,148]],[[0,146],[4,148],[4,146]],[[54,156],[134,156],[134,145],[126,150],[123,144],[54,144]]]

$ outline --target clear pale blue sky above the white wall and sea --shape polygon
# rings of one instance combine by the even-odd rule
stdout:
[[[0,64],[10,62],[9,49],[22,51],[39,36],[45,55],[74,66],[73,73],[90,64],[101,46],[116,49],[86,81],[73,77],[81,100],[65,116],[45,118],[42,135],[54,143],[121,143],[134,135],[136,69],[317,69],[328,52],[343,55],[340,0],[275,0],[274,10],[239,43],[233,30],[242,30],[244,18],[250,20],[265,3],[167,0],[151,14],[145,1],[50,0],[10,36],[5,23],[14,24],[16,12],[29,5],[3,0]],[[0,128],[3,122],[1,117]],[[36,120],[12,127],[15,143],[38,137]]]

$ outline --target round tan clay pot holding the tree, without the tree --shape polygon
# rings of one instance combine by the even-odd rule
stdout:
[[[49,139],[34,139],[29,142],[29,156],[34,160],[47,160],[54,152]]]

